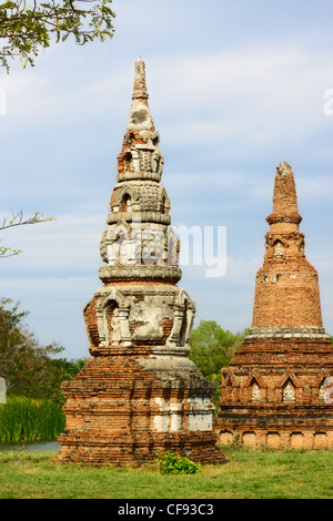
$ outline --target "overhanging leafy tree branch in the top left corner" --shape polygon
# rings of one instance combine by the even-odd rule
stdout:
[[[84,45],[113,37],[115,13],[112,0],[7,0],[0,6],[0,64],[9,71],[9,59],[33,65],[41,49],[73,35]]]

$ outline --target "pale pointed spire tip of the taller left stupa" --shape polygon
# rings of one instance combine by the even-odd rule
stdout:
[[[128,120],[128,131],[154,131],[154,123],[148,105],[145,65],[138,58],[134,68],[132,106]]]

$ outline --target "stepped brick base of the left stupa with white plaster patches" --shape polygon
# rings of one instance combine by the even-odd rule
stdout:
[[[93,358],[63,385],[67,427],[54,461],[140,466],[169,450],[225,463],[212,428],[211,384],[188,358]]]

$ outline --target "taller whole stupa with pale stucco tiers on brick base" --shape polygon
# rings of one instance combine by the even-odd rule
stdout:
[[[176,286],[179,239],[162,167],[139,59],[101,239],[103,286],[84,308],[92,358],[62,387],[67,426],[58,462],[138,466],[164,450],[226,461],[215,446],[214,382],[188,356],[195,306]]]

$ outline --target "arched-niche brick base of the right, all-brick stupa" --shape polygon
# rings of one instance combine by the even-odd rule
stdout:
[[[250,337],[230,368],[222,370],[220,412],[214,420],[219,442],[333,448],[333,400],[324,387],[332,376],[327,335]]]

